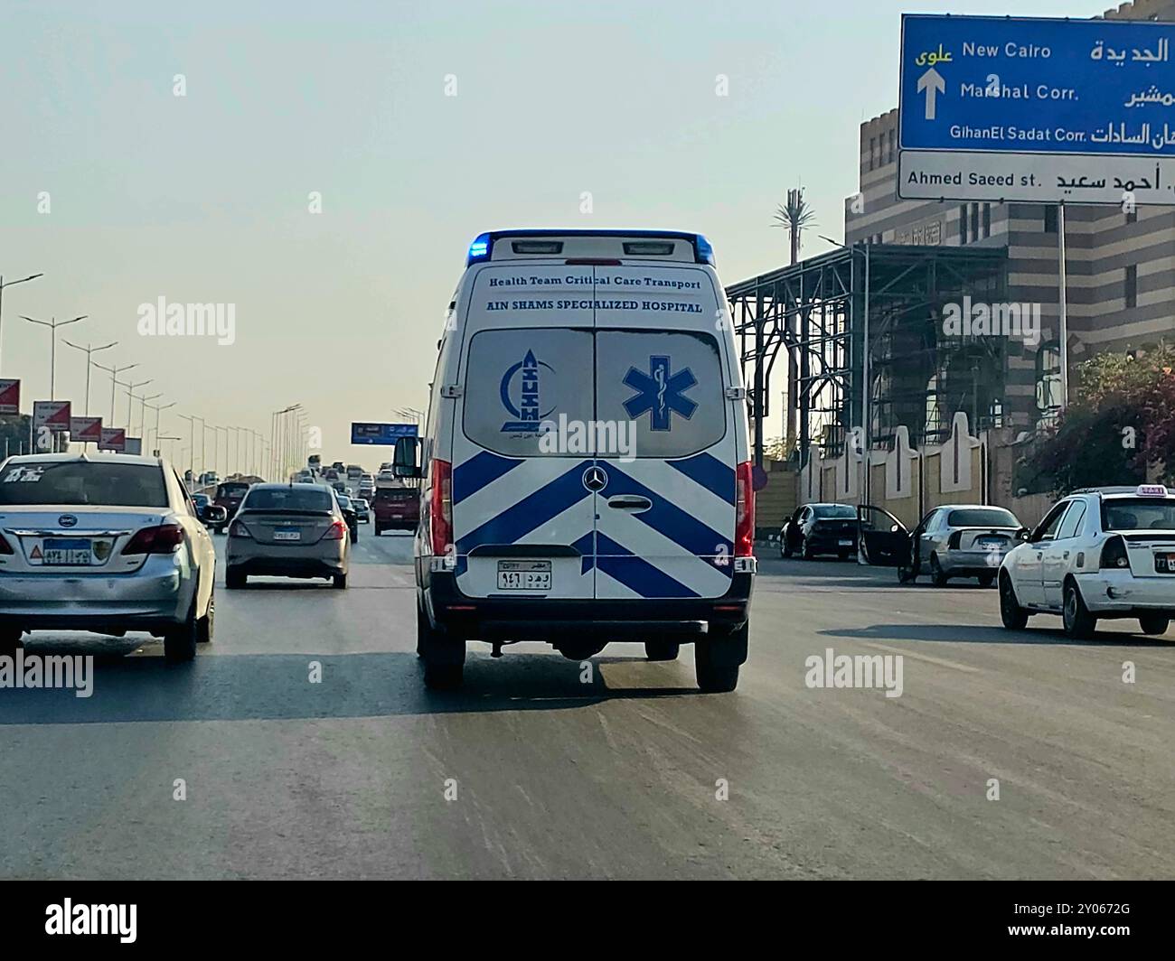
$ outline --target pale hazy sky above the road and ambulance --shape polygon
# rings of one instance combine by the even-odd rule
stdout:
[[[897,105],[901,12],[1103,8],[0,0],[0,274],[46,274],[5,293],[0,372],[31,409],[49,335],[19,315],[88,314],[61,335],[120,341],[103,363],[137,362],[177,402],[164,434],[188,435],[183,412],[268,435],[300,402],[327,459],[372,466],[390,453],[352,449],[349,423],[425,406],[476,234],[699,230],[730,283],[784,262],[772,213],[803,183],[819,253],[815,233],[844,234],[858,125]],[[235,343],[140,336],[160,296],[235,304]],[[59,349],[75,412],[83,384],[83,355]],[[109,398],[95,371],[92,412]]]

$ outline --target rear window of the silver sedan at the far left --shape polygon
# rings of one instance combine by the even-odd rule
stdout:
[[[154,464],[93,461],[9,464],[0,473],[0,504],[168,506],[163,471]]]

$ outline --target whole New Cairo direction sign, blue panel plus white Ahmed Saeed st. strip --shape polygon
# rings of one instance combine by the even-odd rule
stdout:
[[[898,195],[1175,204],[1175,23],[906,14]]]

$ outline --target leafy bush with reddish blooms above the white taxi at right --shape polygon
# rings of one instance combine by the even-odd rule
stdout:
[[[1175,466],[1175,348],[1079,364],[1068,409],[1023,462],[1052,489],[1139,484]]]

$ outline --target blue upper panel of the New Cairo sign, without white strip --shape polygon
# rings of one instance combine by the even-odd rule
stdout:
[[[1175,156],[1175,23],[906,14],[899,145]]]

